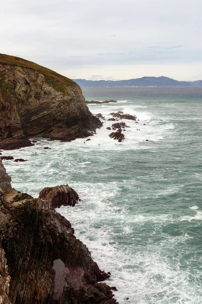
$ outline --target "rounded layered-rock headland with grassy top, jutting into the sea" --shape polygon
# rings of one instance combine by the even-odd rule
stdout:
[[[102,123],[72,80],[36,63],[0,54],[0,148],[31,145],[30,137],[70,141]]]

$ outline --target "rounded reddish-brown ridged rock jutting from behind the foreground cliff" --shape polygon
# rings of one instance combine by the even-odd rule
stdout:
[[[63,206],[75,206],[79,201],[79,196],[68,185],[60,185],[56,187],[46,187],[39,193],[39,199],[48,202],[53,208]]]

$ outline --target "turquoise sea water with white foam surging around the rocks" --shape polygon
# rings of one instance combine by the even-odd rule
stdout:
[[[90,141],[41,144],[5,155],[13,186],[37,197],[45,186],[68,183],[82,201],[58,209],[111,272],[120,304],[202,303],[202,89],[84,89],[102,113],[122,110],[138,117],[125,141],[104,127]],[[144,125],[145,124],[145,125]],[[145,141],[148,139],[148,141]],[[45,150],[44,146],[51,149]],[[129,299],[126,299],[129,297]]]

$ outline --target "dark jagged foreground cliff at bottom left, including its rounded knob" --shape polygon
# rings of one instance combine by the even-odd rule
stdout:
[[[78,200],[76,192],[46,188],[33,199],[10,181],[0,160],[0,303],[115,304],[111,288],[98,283],[109,275],[53,208],[60,189],[66,203]]]

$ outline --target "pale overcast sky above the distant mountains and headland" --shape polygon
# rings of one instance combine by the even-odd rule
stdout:
[[[0,53],[72,79],[202,79],[201,0],[7,0]]]

